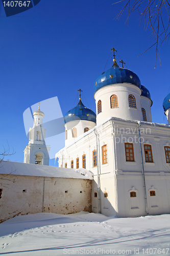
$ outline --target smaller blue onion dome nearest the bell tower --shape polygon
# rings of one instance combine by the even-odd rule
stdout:
[[[87,120],[95,123],[96,115],[92,110],[86,108],[80,100],[77,106],[68,111],[64,116],[65,123],[74,120]]]

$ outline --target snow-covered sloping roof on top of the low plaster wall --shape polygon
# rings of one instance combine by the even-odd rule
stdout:
[[[56,166],[19,163],[10,161],[2,161],[0,163],[0,174],[90,180],[93,179],[93,174],[84,168],[70,169]]]

